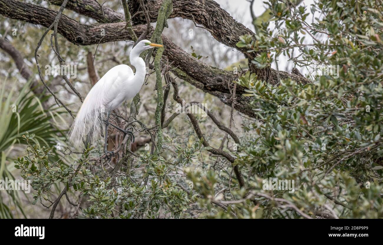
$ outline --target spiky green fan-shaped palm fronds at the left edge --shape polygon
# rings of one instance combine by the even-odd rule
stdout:
[[[16,92],[16,86],[7,91],[5,84],[5,80],[0,78],[0,178],[4,180],[14,179],[11,173],[14,159],[9,152],[15,144],[25,143],[22,136],[26,132],[35,134],[35,142],[45,146],[56,145],[63,141],[65,135],[56,127],[54,118],[61,112],[57,108],[49,108],[48,111],[42,107],[41,101],[49,97],[37,97],[29,91],[28,83],[19,92]],[[58,159],[59,153],[55,154]],[[0,192],[0,219],[13,218],[14,210],[25,217],[18,191]]]

